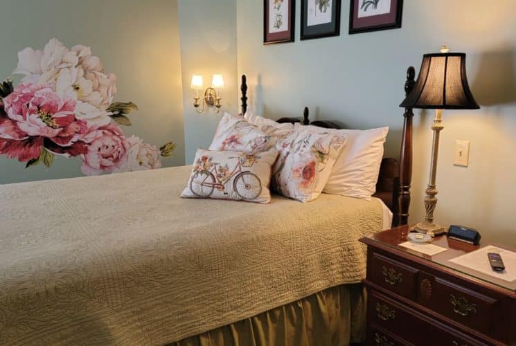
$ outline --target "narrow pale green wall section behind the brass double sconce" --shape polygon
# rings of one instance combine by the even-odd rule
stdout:
[[[199,147],[211,144],[223,111],[238,108],[236,51],[236,0],[179,0],[181,67],[186,164],[190,165]],[[222,110],[198,114],[193,107],[195,91],[190,89],[193,74],[204,76],[204,87],[211,75],[222,73],[226,86],[221,91]]]

